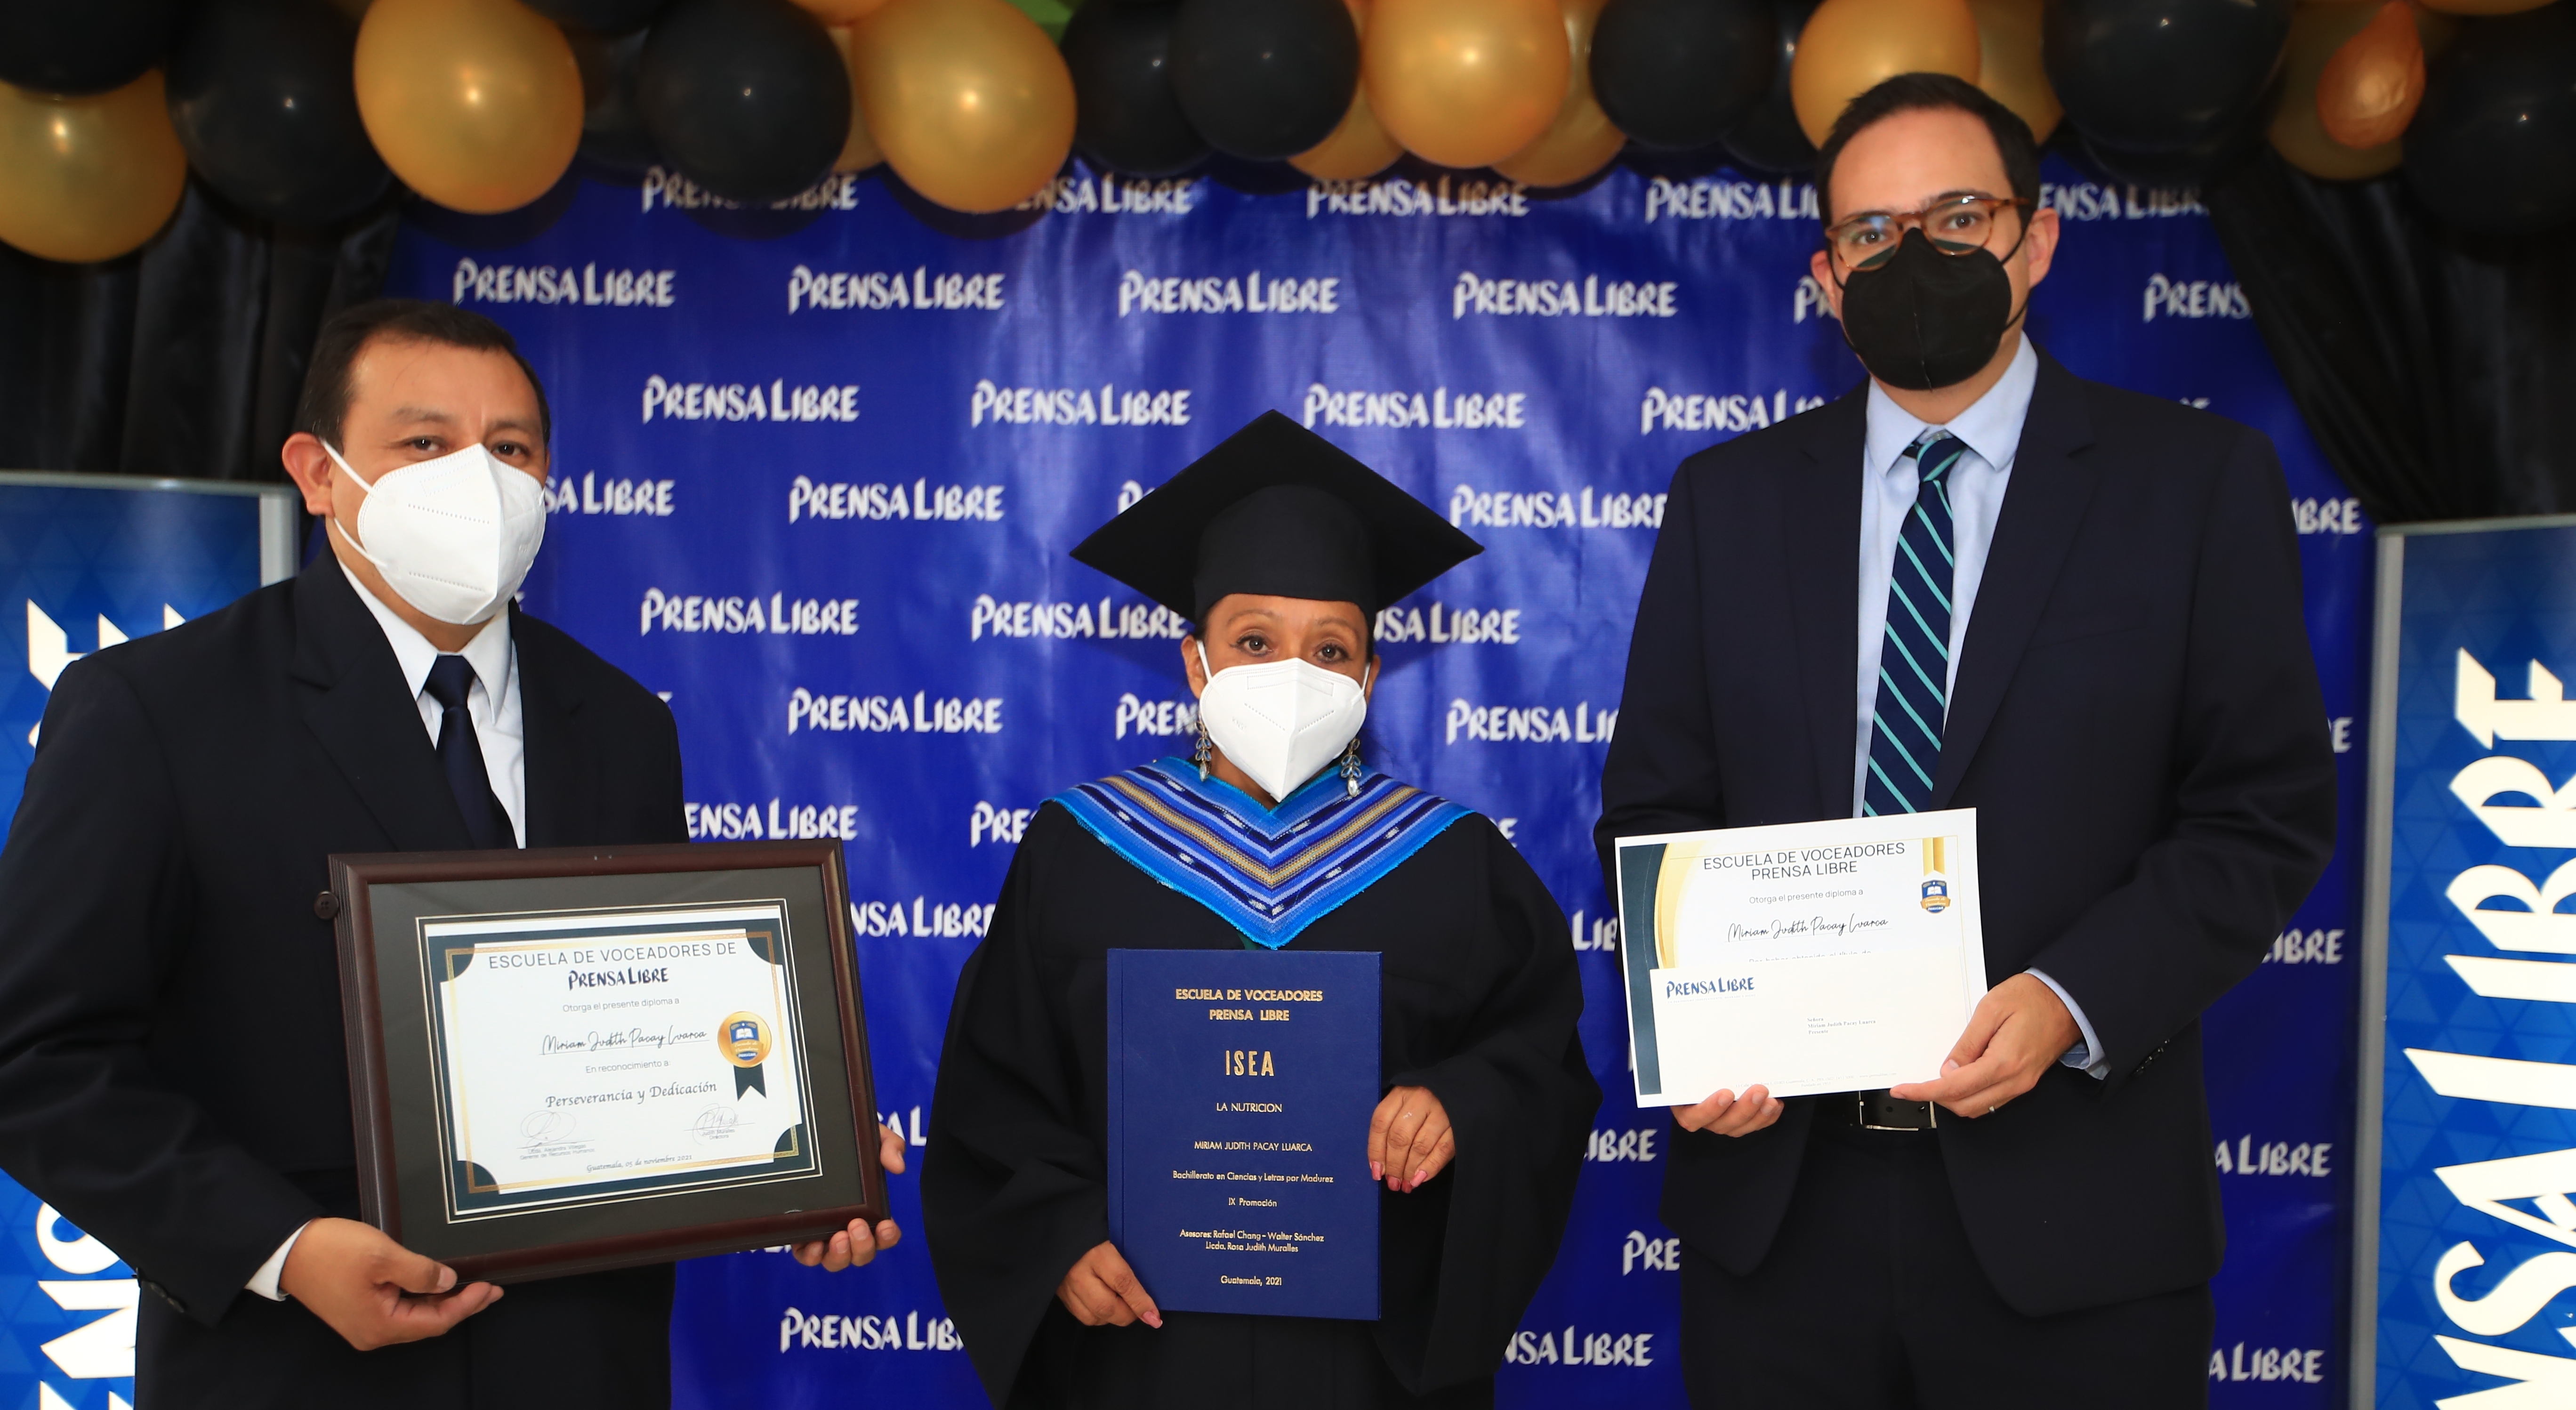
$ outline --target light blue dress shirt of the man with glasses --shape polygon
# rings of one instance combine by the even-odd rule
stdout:
[[[2012,459],[2022,449],[2022,420],[2030,418],[2030,392],[2040,381],[2040,353],[2022,338],[2012,353],[2004,379],[1986,389],[1968,410],[1950,418],[1947,430],[1965,446],[1950,467],[1950,675],[1942,696],[1958,691],[1960,650],[1968,644],[1968,613],[1976,611],[1976,588],[1986,575],[1986,552],[1994,546],[1994,521],[2004,513],[2004,487],[2012,485]],[[1929,420],[1896,405],[1878,381],[1870,381],[1870,423],[1860,451],[1860,675],[1855,678],[1855,742],[1852,742],[1852,817],[1860,817],[1870,781],[1870,719],[1878,711],[1878,655],[1888,642],[1888,577],[1896,575],[1896,539],[1914,513],[1914,492],[1922,487],[1917,461],[1906,446],[1935,430]],[[2030,977],[2056,990],[2074,1016],[2084,1039],[2066,1049],[2058,1062],[2081,1067],[2092,1077],[2107,1077],[2110,1062],[2097,1062],[2102,1039],[2092,1021],[2056,980],[2030,969]]]

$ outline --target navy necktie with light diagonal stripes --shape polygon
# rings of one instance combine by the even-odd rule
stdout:
[[[1896,536],[1888,629],[1878,644],[1878,706],[1870,714],[1870,773],[1860,812],[1888,817],[1932,804],[1940,732],[1950,714],[1950,467],[1968,449],[1947,430],[1906,446],[1922,479]]]

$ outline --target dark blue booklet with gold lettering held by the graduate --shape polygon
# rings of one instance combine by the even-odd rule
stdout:
[[[1378,1317],[1378,956],[1110,951],[1110,1242],[1164,1312]]]

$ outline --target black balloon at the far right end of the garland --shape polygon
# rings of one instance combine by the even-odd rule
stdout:
[[[2576,5],[2468,23],[2406,129],[2406,178],[2465,229],[2576,222]]]

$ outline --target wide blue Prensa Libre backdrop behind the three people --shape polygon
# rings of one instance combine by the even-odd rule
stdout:
[[[2190,193],[2050,165],[2043,198],[2066,242],[2038,343],[2280,446],[2357,822],[2360,505]],[[1182,624],[1066,549],[1273,407],[1486,544],[1378,619],[1370,763],[1530,858],[1571,920],[1584,1052],[1631,1090],[1592,853],[1628,624],[1674,464],[1860,384],[1814,247],[1806,183],[1731,170],[1538,198],[1422,168],[1285,186],[1074,165],[981,219],[881,173],[786,209],[654,173],[574,178],[518,217],[425,214],[389,291],[497,317],[546,379],[528,606],[670,696],[693,835],[848,843],[878,1106],[920,1142],[956,972],[1030,809],[1193,729]],[[2210,1018],[2218,1405],[2321,1407],[2347,1382],[2354,910],[2339,858]],[[1502,1402],[1680,1402],[1667,1147],[1664,1111],[1602,1103]],[[917,1183],[891,1183],[909,1237],[873,1268],[683,1268],[680,1405],[979,1402]]]

